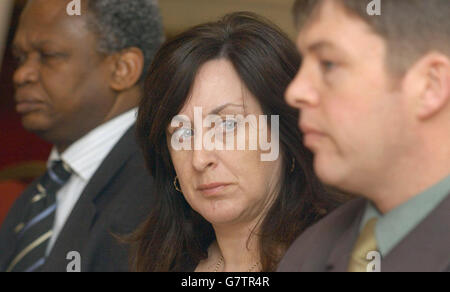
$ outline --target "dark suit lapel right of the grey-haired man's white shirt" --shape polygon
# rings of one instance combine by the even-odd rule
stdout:
[[[84,189],[55,242],[43,268],[44,271],[65,271],[68,263],[66,255],[70,251],[81,253],[82,267],[84,266],[82,251],[89,240],[90,229],[96,220],[98,211],[96,199],[103,194],[103,190],[114,179],[114,176],[138,150],[134,141],[134,129],[132,126],[119,140]]]

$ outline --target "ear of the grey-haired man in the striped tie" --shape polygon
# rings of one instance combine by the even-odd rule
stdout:
[[[123,91],[136,85],[144,69],[144,54],[132,47],[116,53],[112,61],[110,87]]]

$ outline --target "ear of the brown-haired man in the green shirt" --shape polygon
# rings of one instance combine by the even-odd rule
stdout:
[[[432,52],[421,58],[411,70],[415,71],[411,81],[417,82],[420,88],[416,95],[415,113],[417,118],[425,120],[450,103],[450,59]]]

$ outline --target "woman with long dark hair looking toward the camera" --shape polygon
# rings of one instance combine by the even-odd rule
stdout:
[[[154,212],[131,237],[134,270],[274,271],[336,206],[283,99],[299,65],[288,37],[251,13],[163,45],[137,123],[157,190]],[[252,145],[251,132],[258,147],[235,147]]]

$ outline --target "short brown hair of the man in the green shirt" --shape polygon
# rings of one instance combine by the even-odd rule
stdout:
[[[430,51],[450,56],[449,0],[381,0],[381,15],[374,16],[367,13],[371,0],[335,1],[386,40],[386,62],[391,73],[402,75]],[[296,0],[297,25],[304,25],[323,3],[324,0]]]

